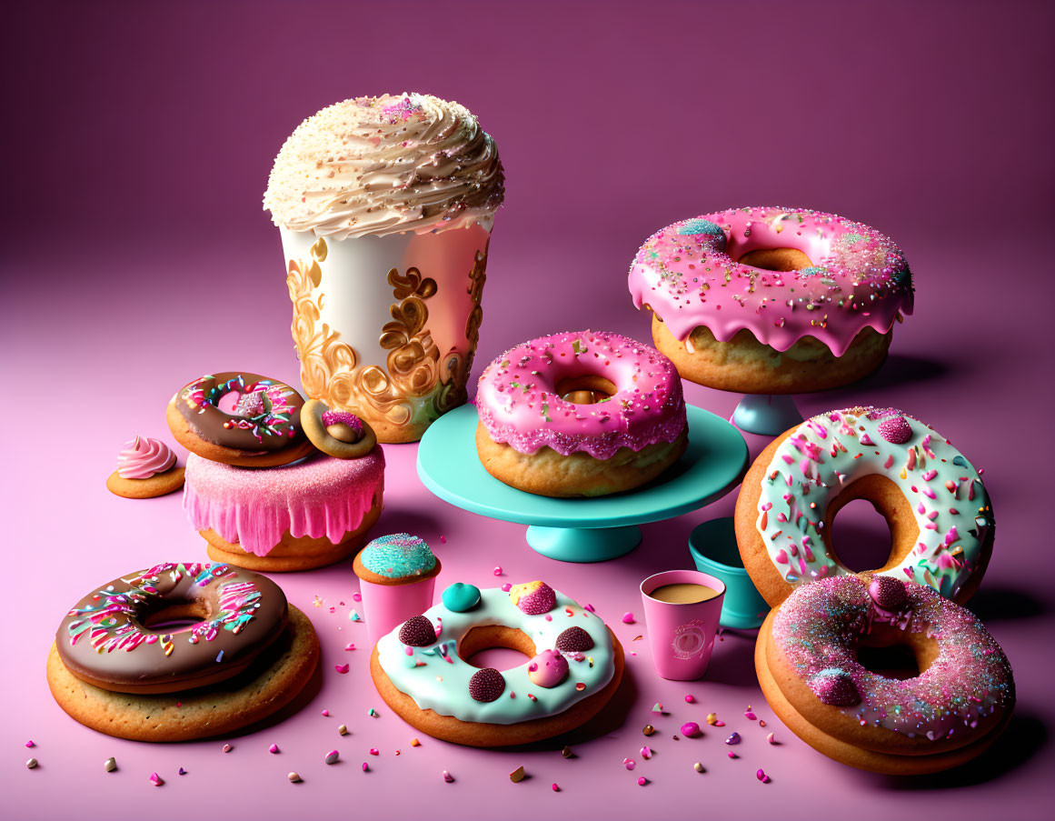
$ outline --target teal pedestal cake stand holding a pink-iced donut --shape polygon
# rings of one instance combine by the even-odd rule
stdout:
[[[747,443],[721,417],[692,405],[689,446],[657,479],[628,493],[554,499],[503,484],[476,454],[477,413],[464,405],[433,422],[418,447],[418,476],[456,508],[528,524],[528,543],[560,561],[606,561],[641,541],[637,526],[703,508],[725,496],[747,471]]]

